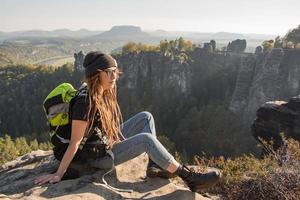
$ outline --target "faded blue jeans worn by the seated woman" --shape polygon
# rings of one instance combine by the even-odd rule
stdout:
[[[142,153],[147,153],[150,159],[163,169],[167,169],[174,157],[157,140],[154,119],[149,112],[140,112],[121,125],[121,142],[112,148],[115,160],[119,165]],[[110,156],[89,161],[96,168],[108,169],[112,166]]]

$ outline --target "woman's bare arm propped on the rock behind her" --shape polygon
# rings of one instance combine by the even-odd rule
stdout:
[[[71,161],[73,160],[78,150],[80,142],[84,136],[86,127],[87,127],[86,121],[72,120],[71,140],[63,156],[63,159],[59,164],[58,170],[54,174],[47,174],[38,177],[35,180],[35,184],[42,185],[47,182],[55,183],[61,180],[61,178],[63,177],[64,173],[66,172],[68,166],[70,165]]]

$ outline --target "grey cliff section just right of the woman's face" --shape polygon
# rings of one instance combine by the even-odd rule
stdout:
[[[158,52],[127,54],[118,62],[126,74],[121,77],[122,87],[126,89],[135,90],[147,85],[150,88],[146,89],[155,92],[174,87],[181,94],[190,94],[192,72],[187,63],[166,58]]]

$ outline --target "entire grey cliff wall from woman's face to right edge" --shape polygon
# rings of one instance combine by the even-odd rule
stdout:
[[[121,78],[122,87],[162,96],[163,91],[171,89],[177,97],[191,97],[203,90],[195,80],[209,76],[210,67],[214,66],[214,70],[231,73],[233,85],[226,88],[222,101],[227,100],[229,109],[246,121],[253,119],[255,111],[266,101],[287,100],[300,92],[300,50],[273,49],[269,53],[250,54],[196,49],[188,56],[188,61],[181,62],[161,53],[123,55],[118,59],[126,74]]]

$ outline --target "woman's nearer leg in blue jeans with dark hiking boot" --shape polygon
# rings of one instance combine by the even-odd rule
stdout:
[[[217,172],[208,172],[204,174],[192,172],[187,167],[180,165],[164,146],[149,133],[139,133],[115,144],[112,151],[115,157],[115,165],[119,165],[146,152],[161,168],[177,174],[182,178],[193,192],[212,186],[219,181],[221,177],[221,174]],[[93,167],[103,168],[101,165],[107,161],[110,161],[111,163],[108,156],[103,159],[94,160],[89,164]]]

